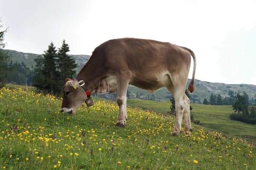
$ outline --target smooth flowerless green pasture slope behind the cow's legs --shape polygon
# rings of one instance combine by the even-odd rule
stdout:
[[[170,102],[154,102],[148,100],[128,99],[128,105],[148,109],[150,111],[167,113],[170,111]],[[256,125],[231,120],[229,115],[233,112],[231,106],[214,106],[191,104],[194,119],[200,120],[203,126],[210,130],[227,134],[231,137],[243,138],[250,142],[255,142]]]

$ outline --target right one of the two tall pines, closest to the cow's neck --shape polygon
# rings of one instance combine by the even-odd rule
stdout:
[[[72,78],[74,74],[76,74],[76,60],[67,55],[67,52],[70,51],[69,45],[66,43],[65,40],[62,41],[61,48],[58,48],[58,53],[57,53],[57,63],[58,66],[57,68],[59,69],[60,72],[60,80],[59,83],[61,85],[64,84],[64,81],[66,78],[70,77]],[[62,87],[62,86],[61,86]]]

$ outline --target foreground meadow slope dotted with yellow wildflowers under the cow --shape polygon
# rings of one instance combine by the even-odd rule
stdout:
[[[115,126],[118,114],[115,102],[95,101],[92,107],[83,105],[75,115],[69,116],[59,112],[61,99],[55,96],[36,94],[26,88],[0,89],[0,169],[233,170],[256,167],[254,145],[224,137],[221,131],[192,124],[190,137],[183,133],[172,136],[175,117],[157,110],[163,109],[164,103],[155,104],[157,108],[148,105],[147,109],[155,109],[154,112],[134,107],[134,102],[127,108],[127,126],[119,128]],[[196,106],[192,105],[195,117],[216,112],[202,105],[196,113]],[[222,115],[226,110],[218,111]]]

